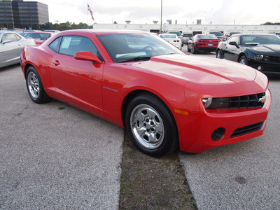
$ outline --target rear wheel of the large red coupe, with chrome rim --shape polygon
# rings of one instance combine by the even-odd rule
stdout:
[[[48,102],[50,98],[45,93],[42,80],[33,66],[29,66],[26,73],[26,85],[29,97],[36,104]]]

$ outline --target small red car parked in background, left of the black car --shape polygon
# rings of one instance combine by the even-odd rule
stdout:
[[[199,50],[215,52],[220,41],[220,39],[212,34],[196,34],[193,36],[193,40],[188,41],[188,52],[193,51],[193,54]]]

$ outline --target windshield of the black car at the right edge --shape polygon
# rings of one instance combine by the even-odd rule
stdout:
[[[241,45],[258,45],[258,44],[277,44],[280,45],[280,38],[274,35],[242,35],[240,36]]]

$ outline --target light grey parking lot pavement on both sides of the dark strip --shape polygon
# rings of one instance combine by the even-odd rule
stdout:
[[[0,88],[0,209],[118,209],[123,128],[55,100],[34,104],[19,65],[0,69]],[[280,78],[269,88],[261,137],[179,153],[198,209],[279,209]]]

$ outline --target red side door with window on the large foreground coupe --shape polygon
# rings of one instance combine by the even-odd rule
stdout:
[[[99,52],[90,38],[63,36],[50,44],[59,45],[59,52],[52,57],[50,71],[57,94],[62,100],[100,115],[102,107],[102,76],[104,64],[74,58],[76,52]],[[102,58],[101,58],[102,59]]]

